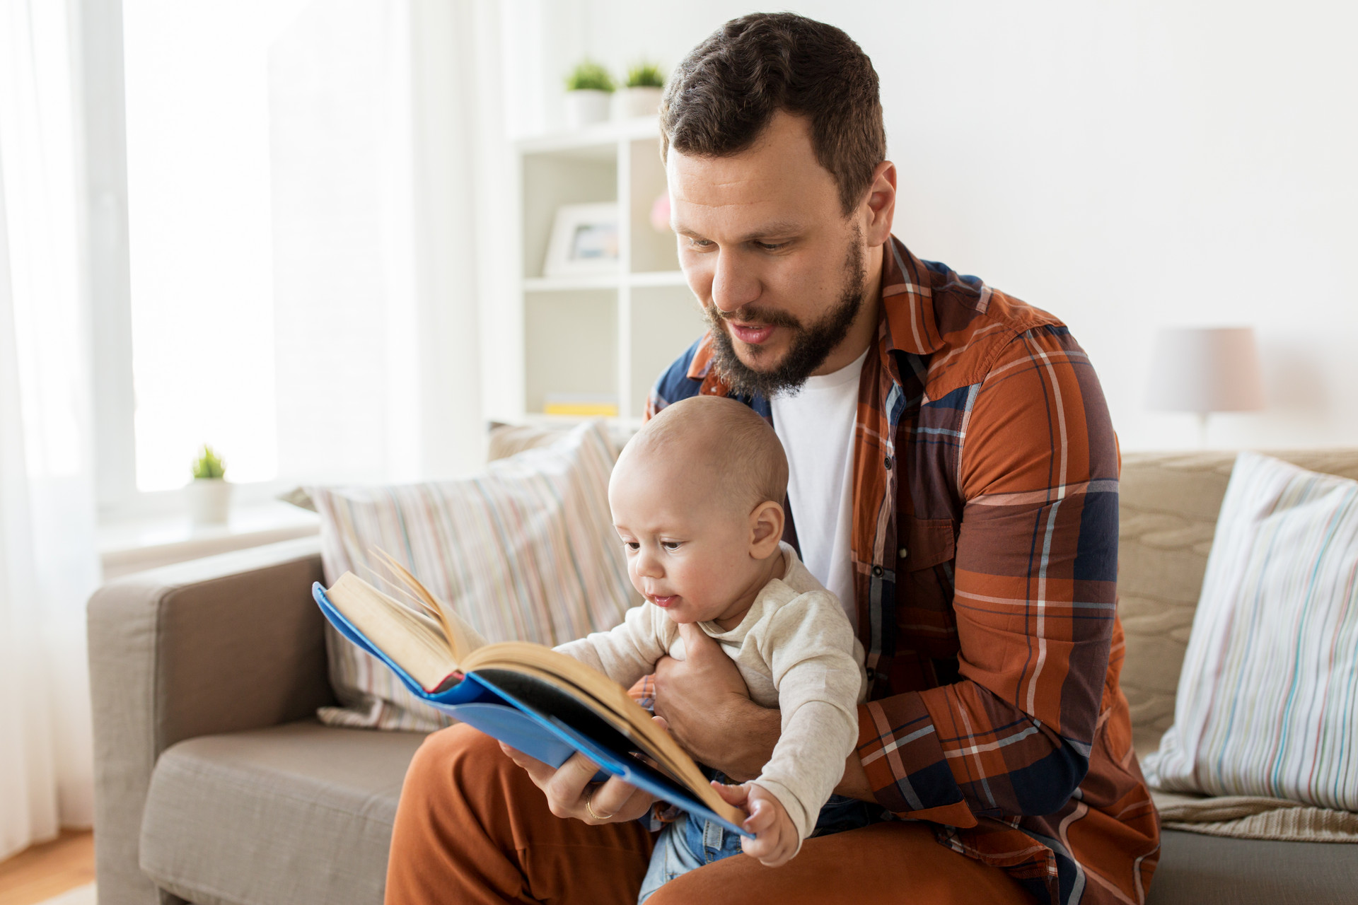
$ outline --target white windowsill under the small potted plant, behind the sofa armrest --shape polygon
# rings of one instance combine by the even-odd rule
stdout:
[[[278,501],[232,506],[225,525],[194,525],[189,516],[152,516],[99,525],[103,579],[234,550],[307,537],[320,531],[314,512]]]

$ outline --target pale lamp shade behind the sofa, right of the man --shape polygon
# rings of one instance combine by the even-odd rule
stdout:
[[[1258,411],[1264,407],[1251,327],[1173,327],[1156,335],[1150,361],[1154,411]]]

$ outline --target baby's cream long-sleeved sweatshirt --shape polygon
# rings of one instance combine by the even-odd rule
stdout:
[[[782,712],[782,735],[773,758],[754,782],[782,803],[797,828],[799,847],[816,825],[858,741],[858,701],[868,677],[862,644],[839,601],[788,544],[785,570],[755,597],[731,631],[698,623],[731,655],[750,697]],[[627,611],[621,625],[557,650],[630,687],[669,654],[683,659],[679,627],[652,602]]]

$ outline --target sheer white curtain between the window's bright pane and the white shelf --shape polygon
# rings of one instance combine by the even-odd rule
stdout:
[[[478,322],[512,274],[501,27],[498,0],[315,0],[270,47],[282,476],[483,461]]]

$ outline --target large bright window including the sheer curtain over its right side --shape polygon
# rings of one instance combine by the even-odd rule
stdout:
[[[182,510],[202,442],[244,502],[479,463],[477,9],[121,0],[86,80],[125,114],[87,118],[102,518]]]

